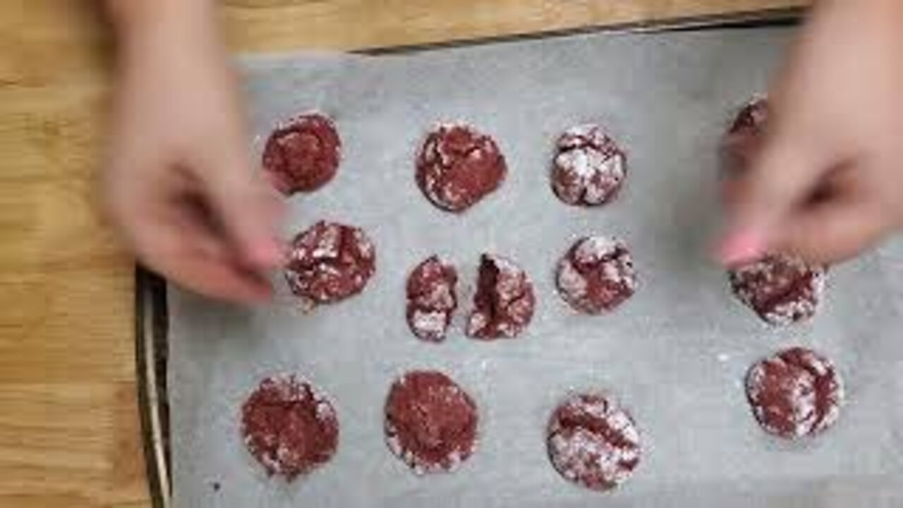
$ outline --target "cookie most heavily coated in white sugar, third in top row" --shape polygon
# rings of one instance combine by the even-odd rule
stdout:
[[[568,204],[610,202],[627,176],[627,155],[597,125],[571,127],[558,139],[552,188]]]

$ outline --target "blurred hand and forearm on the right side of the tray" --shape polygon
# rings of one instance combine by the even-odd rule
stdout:
[[[822,0],[769,103],[727,187],[722,262],[838,261],[903,225],[903,2]]]

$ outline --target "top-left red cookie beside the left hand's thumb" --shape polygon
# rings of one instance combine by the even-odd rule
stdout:
[[[264,169],[285,195],[312,192],[339,169],[341,140],[330,118],[309,113],[275,129],[264,147]]]

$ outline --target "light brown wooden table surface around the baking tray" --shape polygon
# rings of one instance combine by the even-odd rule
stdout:
[[[229,47],[360,49],[803,0],[228,0]],[[95,206],[112,43],[97,0],[0,4],[0,506],[148,506],[134,261]]]

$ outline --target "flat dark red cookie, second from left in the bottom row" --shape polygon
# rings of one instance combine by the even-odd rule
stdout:
[[[477,444],[477,405],[442,372],[399,378],[386,400],[386,443],[417,475],[453,471]]]

